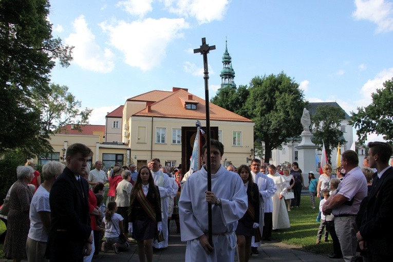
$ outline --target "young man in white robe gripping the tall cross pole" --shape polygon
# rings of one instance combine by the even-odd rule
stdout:
[[[185,261],[234,261],[237,220],[248,208],[247,192],[240,176],[223,167],[224,146],[211,140],[212,191],[207,191],[207,167],[184,183],[179,200],[181,240],[187,241]],[[207,160],[207,145],[202,147]],[[207,161],[205,161],[207,162]],[[208,240],[208,203],[212,203],[213,246]]]

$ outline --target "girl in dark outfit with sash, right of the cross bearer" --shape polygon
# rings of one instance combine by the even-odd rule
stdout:
[[[247,190],[248,209],[245,215],[240,218],[237,228],[237,246],[240,262],[247,262],[251,254],[251,237],[260,237],[259,232],[259,191],[258,185],[253,182],[250,169],[247,165],[240,165],[237,170],[244,186]],[[256,211],[256,212],[255,212]],[[255,240],[257,241],[257,240]]]

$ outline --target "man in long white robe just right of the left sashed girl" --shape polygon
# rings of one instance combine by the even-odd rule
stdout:
[[[158,190],[160,191],[161,196],[161,214],[162,214],[162,235],[164,237],[164,241],[158,242],[157,240],[153,241],[153,247],[167,248],[168,247],[168,198],[172,195],[172,184],[170,183],[169,176],[162,173],[160,170],[160,159],[154,158],[150,162],[152,165],[152,175],[154,178],[154,184],[158,186]]]

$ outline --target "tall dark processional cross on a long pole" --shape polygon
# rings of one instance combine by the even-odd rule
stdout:
[[[206,44],[206,39],[202,38],[202,45],[198,49],[194,49],[194,53],[201,53],[203,55],[203,79],[204,79],[204,95],[206,104],[206,144],[207,144],[207,159],[205,159],[208,168],[208,191],[212,191],[212,172],[210,160],[210,109],[209,109],[209,71],[208,71],[208,53],[210,50],[216,49],[216,46],[209,46]],[[208,203],[208,222],[209,222],[209,243],[213,246],[212,238],[212,204]]]

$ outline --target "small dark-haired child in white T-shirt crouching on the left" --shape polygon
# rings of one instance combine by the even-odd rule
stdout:
[[[101,251],[104,253],[107,251],[107,245],[112,245],[115,253],[119,253],[119,250],[127,250],[129,247],[127,241],[120,238],[120,235],[123,235],[124,218],[116,211],[116,202],[109,202],[105,217],[102,219],[102,224],[105,227],[105,241],[102,242]]]

